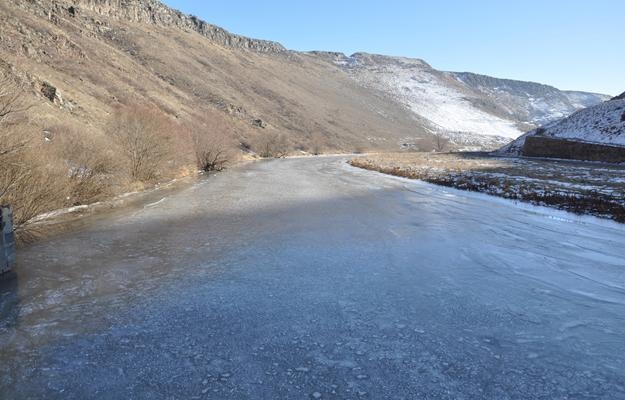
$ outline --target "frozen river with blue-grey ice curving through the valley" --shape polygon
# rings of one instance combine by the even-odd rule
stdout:
[[[625,227],[241,166],[23,250],[2,399],[623,399]]]

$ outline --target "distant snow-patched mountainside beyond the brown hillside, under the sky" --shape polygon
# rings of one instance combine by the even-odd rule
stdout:
[[[359,84],[403,104],[429,123],[433,133],[458,148],[498,147],[541,124],[609,98],[533,82],[438,71],[419,59],[314,54],[339,65]]]

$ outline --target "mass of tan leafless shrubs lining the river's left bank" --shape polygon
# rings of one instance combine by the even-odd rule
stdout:
[[[29,104],[15,79],[1,75],[0,88],[0,204],[12,205],[22,239],[42,213],[191,171],[193,153],[206,171],[222,170],[232,157],[221,120],[209,131],[188,128],[155,107],[134,105],[116,110],[108,135],[70,124],[42,129],[26,120]]]

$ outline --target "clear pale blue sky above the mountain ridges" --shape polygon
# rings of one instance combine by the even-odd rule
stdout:
[[[625,91],[625,1],[165,0],[293,50],[422,58],[435,68],[560,89]]]

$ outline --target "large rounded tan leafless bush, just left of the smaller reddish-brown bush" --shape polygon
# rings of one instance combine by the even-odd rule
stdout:
[[[172,124],[160,111],[134,106],[117,110],[108,130],[120,146],[128,178],[133,182],[153,182],[166,167]]]

